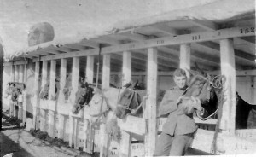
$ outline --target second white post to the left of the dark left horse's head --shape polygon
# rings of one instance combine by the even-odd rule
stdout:
[[[67,76],[67,59],[61,59],[61,80],[60,80],[60,92],[58,98],[58,105],[61,105],[65,102],[65,96],[63,94],[63,89],[66,83],[66,76]],[[59,123],[58,123],[58,138],[64,139],[64,132],[65,132],[65,117],[61,113],[58,114]]]

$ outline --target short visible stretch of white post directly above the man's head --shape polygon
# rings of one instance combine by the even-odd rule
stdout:
[[[190,53],[191,48],[190,44],[181,44],[180,45],[180,62],[179,67],[183,68],[184,70],[190,70]],[[189,78],[189,72],[186,71],[187,78]]]

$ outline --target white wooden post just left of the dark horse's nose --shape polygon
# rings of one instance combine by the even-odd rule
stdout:
[[[70,112],[72,111],[72,106],[75,100],[75,93],[79,89],[79,57],[73,57],[73,66],[72,66],[72,91],[70,95],[70,102],[71,102],[71,107],[70,107]],[[69,146],[72,147],[73,145],[73,139],[76,138],[74,136],[74,127],[75,126],[74,120],[73,120],[72,113],[69,115]]]

